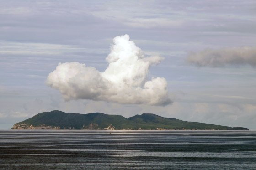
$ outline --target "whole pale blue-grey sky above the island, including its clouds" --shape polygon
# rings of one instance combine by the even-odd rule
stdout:
[[[256,130],[256,1],[0,0],[0,129],[52,110]]]

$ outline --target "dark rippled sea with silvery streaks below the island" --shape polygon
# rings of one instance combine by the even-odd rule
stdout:
[[[256,170],[256,132],[0,131],[0,169]]]

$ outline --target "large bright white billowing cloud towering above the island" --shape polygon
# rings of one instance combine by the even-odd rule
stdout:
[[[47,78],[65,100],[90,99],[122,104],[168,105],[167,81],[163,77],[148,80],[149,67],[163,57],[145,57],[129,36],[113,39],[107,56],[108,67],[99,72],[78,62],[59,63]]]

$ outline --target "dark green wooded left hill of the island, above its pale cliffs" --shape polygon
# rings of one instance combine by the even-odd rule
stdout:
[[[104,129],[110,124],[125,124],[128,120],[119,115],[107,115],[103,113],[64,113],[58,110],[39,113],[32,118],[18,124],[36,126],[54,126],[60,129]],[[89,127],[90,124],[97,124],[98,127]]]

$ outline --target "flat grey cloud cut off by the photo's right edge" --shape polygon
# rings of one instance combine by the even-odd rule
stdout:
[[[223,67],[226,65],[250,65],[256,67],[256,47],[206,49],[191,52],[187,62],[196,66]]]

